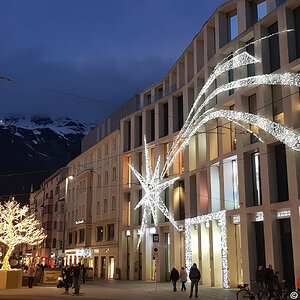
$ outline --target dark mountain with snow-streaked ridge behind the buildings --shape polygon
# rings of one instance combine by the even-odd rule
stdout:
[[[80,154],[82,137],[95,126],[70,118],[0,117],[0,197],[38,188]]]

